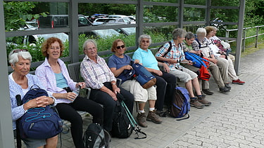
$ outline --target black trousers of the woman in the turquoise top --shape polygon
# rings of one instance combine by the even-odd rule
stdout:
[[[163,111],[164,102],[169,103],[172,100],[172,95],[176,87],[176,76],[163,72],[162,76],[152,73],[156,76],[156,90],[157,90],[157,100],[155,107],[158,111]]]

